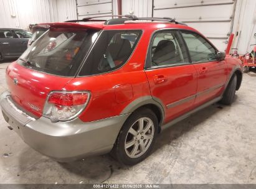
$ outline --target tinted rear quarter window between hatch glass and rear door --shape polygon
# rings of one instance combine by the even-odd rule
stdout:
[[[79,75],[95,75],[120,68],[130,57],[140,35],[141,30],[103,31]]]

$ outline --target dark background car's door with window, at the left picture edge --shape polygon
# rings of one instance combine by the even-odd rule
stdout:
[[[0,53],[2,57],[16,57],[15,39],[11,30],[0,30]]]

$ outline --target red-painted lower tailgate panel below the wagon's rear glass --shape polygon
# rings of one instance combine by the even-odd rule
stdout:
[[[14,78],[18,80],[17,85],[14,84]],[[30,70],[16,62],[11,63],[6,70],[7,86],[14,101],[35,116],[42,116],[45,99],[50,91],[62,90],[70,80],[72,78]],[[38,110],[32,109],[31,105]]]

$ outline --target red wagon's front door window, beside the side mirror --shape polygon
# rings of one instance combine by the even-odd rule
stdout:
[[[209,62],[216,60],[216,49],[206,39],[194,32],[181,31],[189,48],[192,62]]]

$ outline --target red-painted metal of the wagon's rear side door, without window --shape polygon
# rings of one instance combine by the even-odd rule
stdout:
[[[193,98],[186,103],[167,108],[168,104],[175,103],[176,101],[196,94],[197,73],[193,65],[147,70],[146,75],[148,76],[153,98],[160,99],[164,104],[166,112],[164,122],[168,122],[180,114],[183,114],[194,104]],[[154,82],[154,76],[156,75],[163,75],[167,80],[157,84]]]

